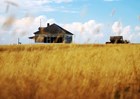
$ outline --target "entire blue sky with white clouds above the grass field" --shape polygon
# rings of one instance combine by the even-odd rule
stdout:
[[[105,43],[111,35],[140,42],[140,0],[1,0],[0,3],[0,44],[14,44],[17,38],[22,43],[33,43],[28,36],[37,31],[40,19],[42,26],[57,23],[74,33],[74,43]]]

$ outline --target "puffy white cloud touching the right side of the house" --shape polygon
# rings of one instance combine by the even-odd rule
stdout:
[[[102,23],[97,23],[95,20],[89,20],[85,23],[73,22],[64,24],[64,28],[71,31],[75,35],[75,43],[97,43],[97,39],[103,37]]]

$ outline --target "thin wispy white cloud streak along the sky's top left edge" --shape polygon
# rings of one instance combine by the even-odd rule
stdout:
[[[36,14],[53,11],[75,13],[76,11],[72,11],[66,7],[62,9],[59,5],[60,3],[66,4],[72,1],[73,0],[0,0],[0,14],[12,13],[14,15],[20,16],[21,13]],[[13,4],[17,6],[14,6]]]

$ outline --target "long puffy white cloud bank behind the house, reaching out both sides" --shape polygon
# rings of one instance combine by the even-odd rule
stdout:
[[[12,38],[12,41],[7,42],[16,43],[17,38],[26,38],[26,40],[23,42],[29,43],[28,37],[33,36],[34,35],[33,33],[38,30],[38,27],[40,26],[40,20],[42,27],[46,27],[47,23],[50,24],[57,23],[55,19],[48,19],[45,16],[38,17],[28,16],[20,19],[15,19],[14,23],[12,24],[12,28],[10,28],[10,30],[5,31],[3,28],[1,29],[1,32],[8,34],[9,36],[1,34],[2,36],[0,37],[0,41],[2,42],[2,40],[4,39]],[[103,24],[97,23],[95,20],[89,20],[85,23],[73,22],[70,24],[63,23],[57,24],[74,34],[75,43],[94,43],[97,39],[103,37],[102,33]]]

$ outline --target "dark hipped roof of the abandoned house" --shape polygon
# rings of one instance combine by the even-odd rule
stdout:
[[[59,34],[59,33],[65,33],[68,35],[73,35],[71,32],[65,30],[64,28],[58,26],[57,24],[52,24],[47,27],[39,27],[39,31],[35,32],[34,34],[40,34],[40,31],[43,33],[50,33],[50,34]]]

